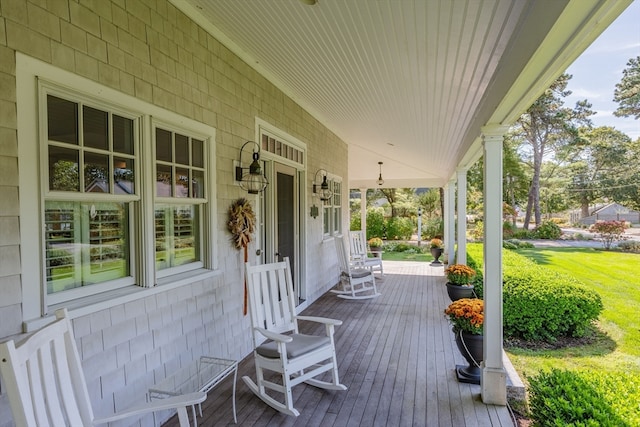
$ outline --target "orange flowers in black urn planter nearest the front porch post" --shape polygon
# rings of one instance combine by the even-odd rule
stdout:
[[[462,298],[452,302],[444,314],[453,325],[456,345],[469,366],[456,365],[458,381],[480,384],[480,362],[484,326],[484,301],[478,298]]]

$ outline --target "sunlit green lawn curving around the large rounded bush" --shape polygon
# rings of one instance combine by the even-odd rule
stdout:
[[[592,248],[517,252],[579,279],[600,294],[604,310],[592,343],[560,350],[507,348],[516,369],[528,376],[552,367],[640,375],[640,255]]]

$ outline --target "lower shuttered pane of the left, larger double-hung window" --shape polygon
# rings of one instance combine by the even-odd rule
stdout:
[[[45,203],[47,292],[129,276],[124,203]]]

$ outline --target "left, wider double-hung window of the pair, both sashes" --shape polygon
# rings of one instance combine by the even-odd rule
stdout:
[[[47,294],[133,284],[136,119],[51,93],[45,114]]]

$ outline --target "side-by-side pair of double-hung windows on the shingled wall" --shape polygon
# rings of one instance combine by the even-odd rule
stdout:
[[[33,253],[33,241],[43,248],[45,283],[39,285],[39,273],[30,281],[44,286],[45,296],[44,303],[25,299],[33,301],[25,318],[46,313],[50,305],[98,294],[108,299],[105,291],[154,286],[160,278],[214,268],[215,239],[203,234],[215,230],[214,183],[208,178],[213,129],[146,104],[120,107],[121,94],[93,99],[44,80],[35,86],[41,107],[32,122],[40,122],[42,137],[21,158],[40,156],[25,169],[41,178],[39,185],[21,184],[21,196],[25,206],[42,210],[21,211],[21,218],[32,225],[24,233],[25,250]],[[138,111],[153,111],[154,117]],[[172,118],[181,125],[172,125]],[[145,176],[142,170],[153,172]]]

